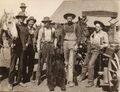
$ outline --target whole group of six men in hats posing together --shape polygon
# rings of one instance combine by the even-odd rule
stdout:
[[[11,44],[11,63],[10,63],[10,71],[9,71],[9,88],[13,88],[14,76],[15,76],[15,66],[16,62],[19,61],[18,64],[18,77],[17,83],[22,86],[25,86],[24,83],[26,80],[31,80],[33,68],[34,68],[34,57],[35,52],[38,51],[39,59],[38,59],[38,71],[37,71],[37,84],[41,83],[41,75],[44,63],[46,63],[46,76],[47,76],[47,85],[50,91],[53,91],[55,88],[54,84],[54,61],[55,61],[55,50],[59,47],[58,37],[56,36],[57,28],[53,28],[51,26],[52,20],[49,17],[44,17],[42,23],[44,24],[40,30],[36,30],[34,28],[34,24],[36,23],[36,19],[30,16],[27,20],[26,15],[26,5],[24,3],[21,4],[20,8],[21,12],[16,16],[18,20],[16,23],[16,28],[18,32],[18,38],[15,38],[13,43]],[[78,44],[82,39],[82,32],[79,28],[79,24],[73,23],[72,20],[76,17],[75,14],[67,13],[64,15],[64,18],[67,20],[67,23],[61,27],[61,37],[63,39],[61,42],[60,49],[63,50],[63,62],[65,63],[66,68],[66,76],[67,84],[69,86],[74,86],[73,82],[73,69],[74,69],[74,60],[75,60],[75,51],[78,48]],[[26,23],[25,23],[26,20]],[[85,59],[85,65],[82,69],[82,75],[80,80],[85,78],[85,74],[88,71],[88,87],[94,85],[93,77],[94,77],[94,65],[95,60],[99,54],[99,50],[108,46],[108,35],[103,31],[104,24],[100,21],[94,22],[96,31],[90,36],[88,43],[90,42],[90,46],[88,49],[88,54]],[[84,35],[86,37],[87,35]],[[28,68],[27,68],[28,66]],[[58,65],[59,66],[59,65]],[[88,68],[87,68],[88,66]],[[62,72],[64,71],[64,68]],[[26,72],[27,71],[27,72]],[[65,81],[60,86],[61,90],[66,90]]]

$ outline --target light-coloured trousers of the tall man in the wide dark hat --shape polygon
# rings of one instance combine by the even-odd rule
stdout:
[[[64,41],[64,58],[65,63],[67,63],[67,81],[73,82],[73,68],[74,68],[74,56],[75,52],[73,50],[76,41]]]

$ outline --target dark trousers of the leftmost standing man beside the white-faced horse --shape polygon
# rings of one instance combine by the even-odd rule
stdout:
[[[18,63],[18,72],[17,72],[17,82],[19,83],[21,81],[22,78],[22,69],[23,69],[23,62],[21,60],[21,52],[22,49],[20,49],[19,47],[14,47],[11,48],[11,60],[10,60],[10,69],[9,69],[9,76],[8,76],[8,82],[10,84],[14,83],[14,77],[16,75],[16,63],[19,60]]]

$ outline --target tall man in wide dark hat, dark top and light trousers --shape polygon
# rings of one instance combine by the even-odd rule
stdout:
[[[67,23],[64,24],[64,58],[67,69],[67,83],[70,87],[74,86],[73,82],[73,63],[74,63],[74,50],[77,46],[76,24],[73,22],[76,15],[67,13],[64,16]]]

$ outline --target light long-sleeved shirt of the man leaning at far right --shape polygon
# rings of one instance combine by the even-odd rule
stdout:
[[[98,47],[107,47],[109,44],[108,40],[108,34],[104,31],[99,31],[98,33],[95,31],[91,36],[90,36],[90,43],[92,45],[98,46]]]

